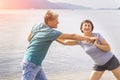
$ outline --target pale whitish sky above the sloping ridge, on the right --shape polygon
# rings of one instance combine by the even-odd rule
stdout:
[[[91,8],[118,8],[120,0],[48,0],[51,2],[66,2]]]

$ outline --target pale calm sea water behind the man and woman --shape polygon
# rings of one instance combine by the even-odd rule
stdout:
[[[0,10],[0,80],[21,80],[23,59],[29,44],[27,37],[36,23],[44,21],[48,9]],[[56,30],[63,33],[82,34],[80,24],[89,19],[93,32],[100,33],[120,60],[120,10],[53,9],[59,14]],[[48,80],[88,80],[93,60],[81,46],[52,43],[42,63]],[[101,80],[115,80],[111,72]]]

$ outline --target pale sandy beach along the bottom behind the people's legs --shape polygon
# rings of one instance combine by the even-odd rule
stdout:
[[[63,73],[63,74],[47,74],[48,80],[88,80],[89,72],[73,72],[73,73]],[[2,80],[21,80],[20,75],[16,75],[15,77],[2,78]],[[106,71],[100,80],[117,80],[114,75],[110,71]]]

